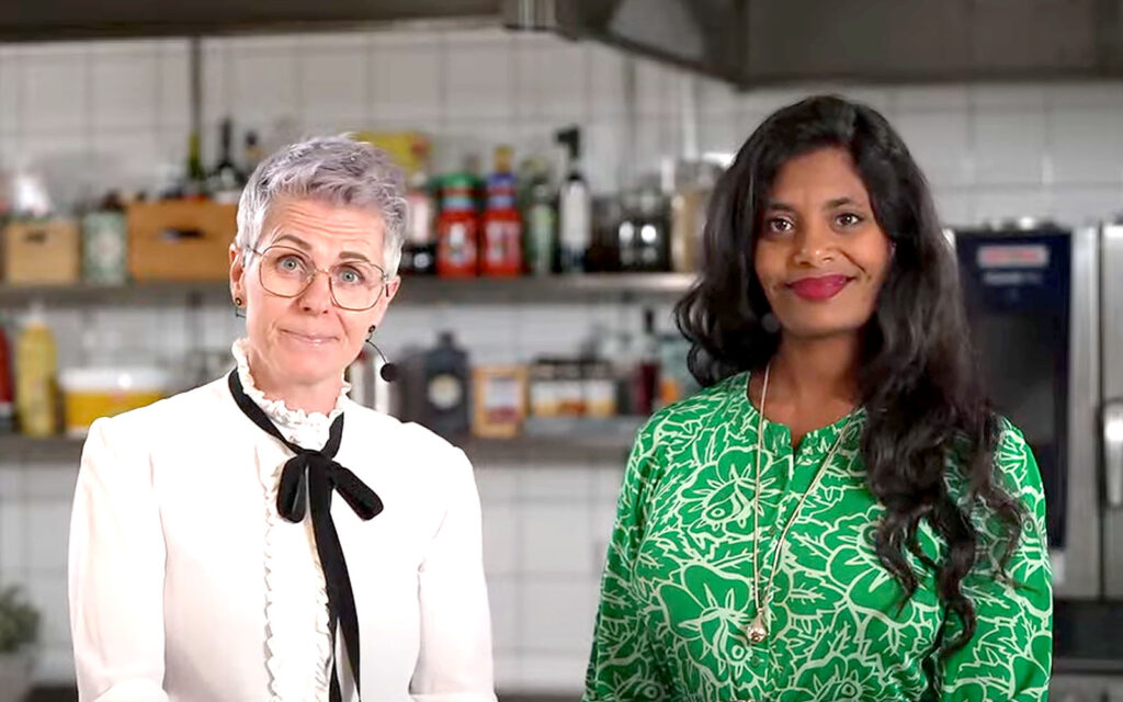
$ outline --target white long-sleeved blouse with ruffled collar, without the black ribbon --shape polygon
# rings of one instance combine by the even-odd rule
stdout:
[[[266,400],[241,343],[234,353],[246,394],[294,444],[323,446],[346,411],[336,459],[385,504],[366,522],[338,496],[331,507],[358,610],[364,702],[493,701],[480,502],[464,453],[344,394],[327,416]],[[71,522],[81,700],[328,700],[332,641],[311,521],[276,511],[289,457],[225,377],[94,422]],[[357,700],[348,668],[345,699]]]

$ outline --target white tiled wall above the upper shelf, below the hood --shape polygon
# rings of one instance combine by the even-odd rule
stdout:
[[[469,153],[486,158],[499,143],[556,157],[554,130],[579,124],[594,188],[614,191],[626,137],[634,137],[640,172],[682,145],[685,74],[637,60],[630,125],[627,61],[599,45],[497,28],[206,39],[206,157],[214,157],[226,116],[239,133],[257,129],[274,142],[417,128],[435,137],[440,167]],[[898,127],[952,224],[1028,212],[1071,222],[1123,209],[1120,82],[746,93],[697,82],[703,152],[736,151],[775,108],[838,91],[882,109]],[[188,43],[0,46],[0,163],[64,171],[63,197],[150,186],[184,161]]]

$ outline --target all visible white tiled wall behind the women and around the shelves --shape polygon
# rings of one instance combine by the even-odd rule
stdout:
[[[312,133],[430,133],[439,167],[512,144],[546,152],[556,128],[584,127],[586,170],[602,192],[652,171],[681,146],[684,74],[637,61],[636,124],[624,66],[609,48],[499,29],[213,38],[203,44],[206,161],[219,121],[280,139]],[[819,90],[882,109],[934,188],[944,220],[1022,215],[1077,224],[1123,210],[1123,83],[815,86],[737,93],[699,79],[702,152],[730,153],[768,112]],[[147,188],[185,159],[188,44],[179,39],[0,46],[0,167],[38,166],[63,199]],[[240,139],[239,139],[240,143]],[[409,284],[407,282],[407,284]],[[670,328],[669,310],[659,326]],[[222,348],[240,329],[229,308],[52,310],[63,366],[81,340],[174,362],[189,341]],[[454,329],[480,363],[575,350],[600,323],[638,330],[634,306],[433,307],[391,311],[391,356]],[[100,337],[91,337],[97,331]],[[97,344],[97,341],[90,341]],[[496,673],[504,690],[579,689],[620,465],[478,466]],[[0,582],[44,608],[43,680],[72,678],[65,528],[73,466],[0,457]]]

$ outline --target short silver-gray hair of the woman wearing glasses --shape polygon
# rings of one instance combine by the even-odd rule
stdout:
[[[409,206],[402,170],[386,152],[338,136],[291,144],[272,154],[258,164],[241,191],[235,246],[243,250],[257,246],[266,210],[281,198],[309,198],[377,211],[385,229],[386,274],[398,273]]]

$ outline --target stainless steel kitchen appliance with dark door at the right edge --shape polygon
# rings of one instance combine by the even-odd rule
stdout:
[[[952,234],[992,399],[1041,467],[1056,596],[1123,600],[1123,222]]]

